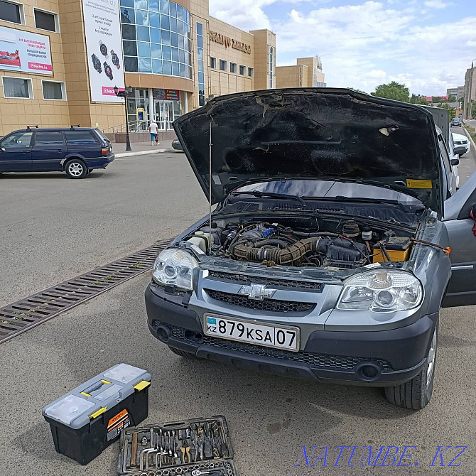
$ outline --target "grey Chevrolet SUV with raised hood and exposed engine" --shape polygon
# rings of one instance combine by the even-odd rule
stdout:
[[[173,126],[217,206],[159,254],[152,335],[183,357],[382,386],[423,409],[440,307],[476,303],[476,172],[449,187],[431,113],[352,90],[266,90]]]

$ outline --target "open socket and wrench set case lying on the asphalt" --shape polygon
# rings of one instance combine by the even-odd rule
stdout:
[[[126,428],[119,475],[238,476],[224,416]]]

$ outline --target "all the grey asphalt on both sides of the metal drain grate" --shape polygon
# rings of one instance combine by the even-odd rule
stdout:
[[[460,174],[475,167],[474,152],[461,158]],[[25,174],[3,175],[0,183],[3,303],[171,237],[207,212],[183,154],[120,159],[86,180]],[[2,476],[117,474],[118,443],[86,467],[55,453],[41,409],[118,362],[153,375],[146,424],[225,415],[242,476],[310,475],[324,470],[324,463],[330,474],[382,475],[396,471],[404,446],[416,447],[406,470],[412,475],[474,474],[476,308],[442,310],[433,399],[413,412],[391,406],[377,388],[285,379],[178,357],[148,332],[149,280],[150,273],[134,278],[0,345]],[[350,448],[335,466],[338,445]],[[369,468],[368,457],[359,461],[369,446],[374,452],[383,445],[399,448],[393,467]],[[318,448],[311,457],[313,446]],[[438,447],[441,452],[447,446],[452,448],[435,458]],[[462,450],[455,446],[467,449],[453,461],[458,467],[448,467]]]

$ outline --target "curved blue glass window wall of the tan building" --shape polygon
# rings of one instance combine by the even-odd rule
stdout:
[[[190,12],[169,0],[120,0],[125,72],[192,79]]]

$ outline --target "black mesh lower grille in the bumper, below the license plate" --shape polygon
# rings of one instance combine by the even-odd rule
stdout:
[[[187,340],[185,338],[185,330],[176,326],[170,325],[173,337]],[[195,342],[196,341],[192,341]],[[311,352],[289,352],[288,350],[272,349],[271,347],[261,347],[259,345],[246,344],[244,342],[234,342],[233,340],[220,339],[218,337],[203,336],[203,343],[207,345],[214,345],[222,349],[237,350],[239,352],[247,352],[247,354],[262,355],[264,357],[274,357],[275,359],[293,360],[297,362],[304,362],[313,367],[320,367],[323,369],[342,369],[352,370],[359,362],[372,361],[378,362],[382,365],[384,371],[391,372],[392,367],[389,362],[384,359],[369,359],[367,357],[345,357],[342,355],[330,354],[314,354]]]

